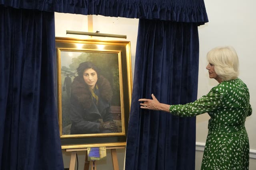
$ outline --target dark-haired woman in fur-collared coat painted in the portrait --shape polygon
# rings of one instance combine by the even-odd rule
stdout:
[[[71,86],[70,134],[118,132],[110,111],[110,82],[91,62],[80,63],[77,72]]]

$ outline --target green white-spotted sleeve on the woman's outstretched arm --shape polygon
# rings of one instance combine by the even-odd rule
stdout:
[[[184,105],[171,105],[170,113],[180,117],[192,117],[200,115],[202,113],[214,111],[220,108],[223,98],[223,93],[220,92],[220,88],[215,86],[207,95],[202,96],[195,102]]]

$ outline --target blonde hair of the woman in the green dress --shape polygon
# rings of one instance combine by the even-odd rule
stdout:
[[[207,53],[207,60],[214,65],[216,74],[223,81],[238,77],[239,61],[233,47],[216,47]]]

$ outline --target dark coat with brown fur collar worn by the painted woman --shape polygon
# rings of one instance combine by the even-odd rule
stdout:
[[[98,77],[98,105],[93,102],[91,92],[83,77],[74,78],[71,86],[70,134],[108,133],[100,131],[100,121],[113,121],[110,111],[112,89],[109,81],[103,76]]]

